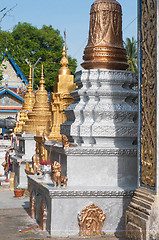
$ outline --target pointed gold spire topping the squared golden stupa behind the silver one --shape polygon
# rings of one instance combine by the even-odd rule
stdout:
[[[66,58],[66,46],[63,46],[63,50],[62,50],[62,59],[61,59],[61,68],[58,72],[59,75],[71,75],[71,72],[68,68],[68,59]]]

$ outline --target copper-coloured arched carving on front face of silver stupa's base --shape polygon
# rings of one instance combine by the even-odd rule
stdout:
[[[106,219],[105,213],[94,204],[85,207],[79,215],[81,235],[94,236],[102,233],[102,227]]]

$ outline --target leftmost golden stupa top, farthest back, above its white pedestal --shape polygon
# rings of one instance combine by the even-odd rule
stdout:
[[[35,103],[35,94],[33,93],[32,88],[32,67],[30,66],[29,72],[29,83],[27,87],[27,92],[24,95],[24,103],[22,106],[22,110],[20,111],[19,121],[16,123],[16,127],[14,128],[15,133],[21,133],[22,128],[25,125],[25,122],[28,120],[28,112],[32,111],[34,103]]]

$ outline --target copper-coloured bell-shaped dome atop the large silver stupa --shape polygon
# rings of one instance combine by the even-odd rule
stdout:
[[[116,0],[97,0],[91,6],[84,69],[126,70],[126,50],[122,39],[122,9]]]

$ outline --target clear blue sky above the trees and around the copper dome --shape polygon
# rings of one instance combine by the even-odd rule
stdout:
[[[94,0],[1,0],[0,9],[17,4],[3,19],[1,27],[2,30],[12,31],[18,22],[29,22],[38,28],[44,24],[52,25],[54,29],[60,30],[62,36],[66,29],[68,54],[78,60],[77,70],[80,70],[89,32],[89,12],[93,2]],[[123,39],[136,39],[137,0],[118,2],[123,10]]]

